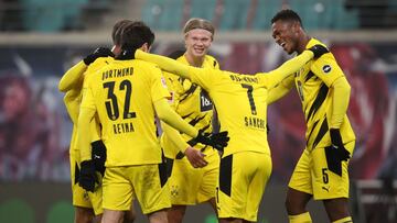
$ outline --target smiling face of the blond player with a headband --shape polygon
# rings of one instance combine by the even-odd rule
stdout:
[[[203,29],[194,29],[185,34],[186,54],[203,57],[207,54],[213,34]]]

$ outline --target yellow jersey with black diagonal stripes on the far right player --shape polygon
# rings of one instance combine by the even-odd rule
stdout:
[[[322,43],[312,38],[307,48],[315,44]],[[296,87],[307,123],[305,140],[309,149],[331,145],[329,126],[332,114],[332,94],[330,86],[341,77],[344,77],[344,74],[332,53],[316,60],[310,60],[296,74]],[[344,143],[355,140],[347,115],[344,116],[340,130]]]

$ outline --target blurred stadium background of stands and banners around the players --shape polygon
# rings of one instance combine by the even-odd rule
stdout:
[[[217,27],[211,54],[221,67],[254,74],[288,58],[270,33],[282,8],[298,11],[307,31],[329,43],[351,82],[355,222],[396,223],[397,0],[0,0],[0,222],[73,222],[72,125],[57,82],[82,56],[111,45],[116,21],[143,20],[157,34],[153,52],[167,54],[183,48],[189,18],[211,20]],[[304,147],[296,92],[268,116],[273,172],[258,222],[279,223],[287,222],[286,185]],[[314,222],[326,222],[321,203],[310,210]],[[216,221],[198,205],[185,222]]]

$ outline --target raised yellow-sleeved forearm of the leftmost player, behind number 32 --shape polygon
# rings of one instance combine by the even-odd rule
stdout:
[[[84,80],[83,74],[87,70],[87,67],[88,66],[82,60],[68,69],[60,80],[60,91],[66,92],[73,88],[81,87]]]

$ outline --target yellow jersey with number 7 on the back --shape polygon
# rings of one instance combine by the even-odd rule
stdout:
[[[213,99],[221,131],[230,137],[224,156],[238,152],[270,155],[267,142],[267,93],[281,81],[278,73],[238,75],[217,69],[189,68],[191,80],[202,86]]]

